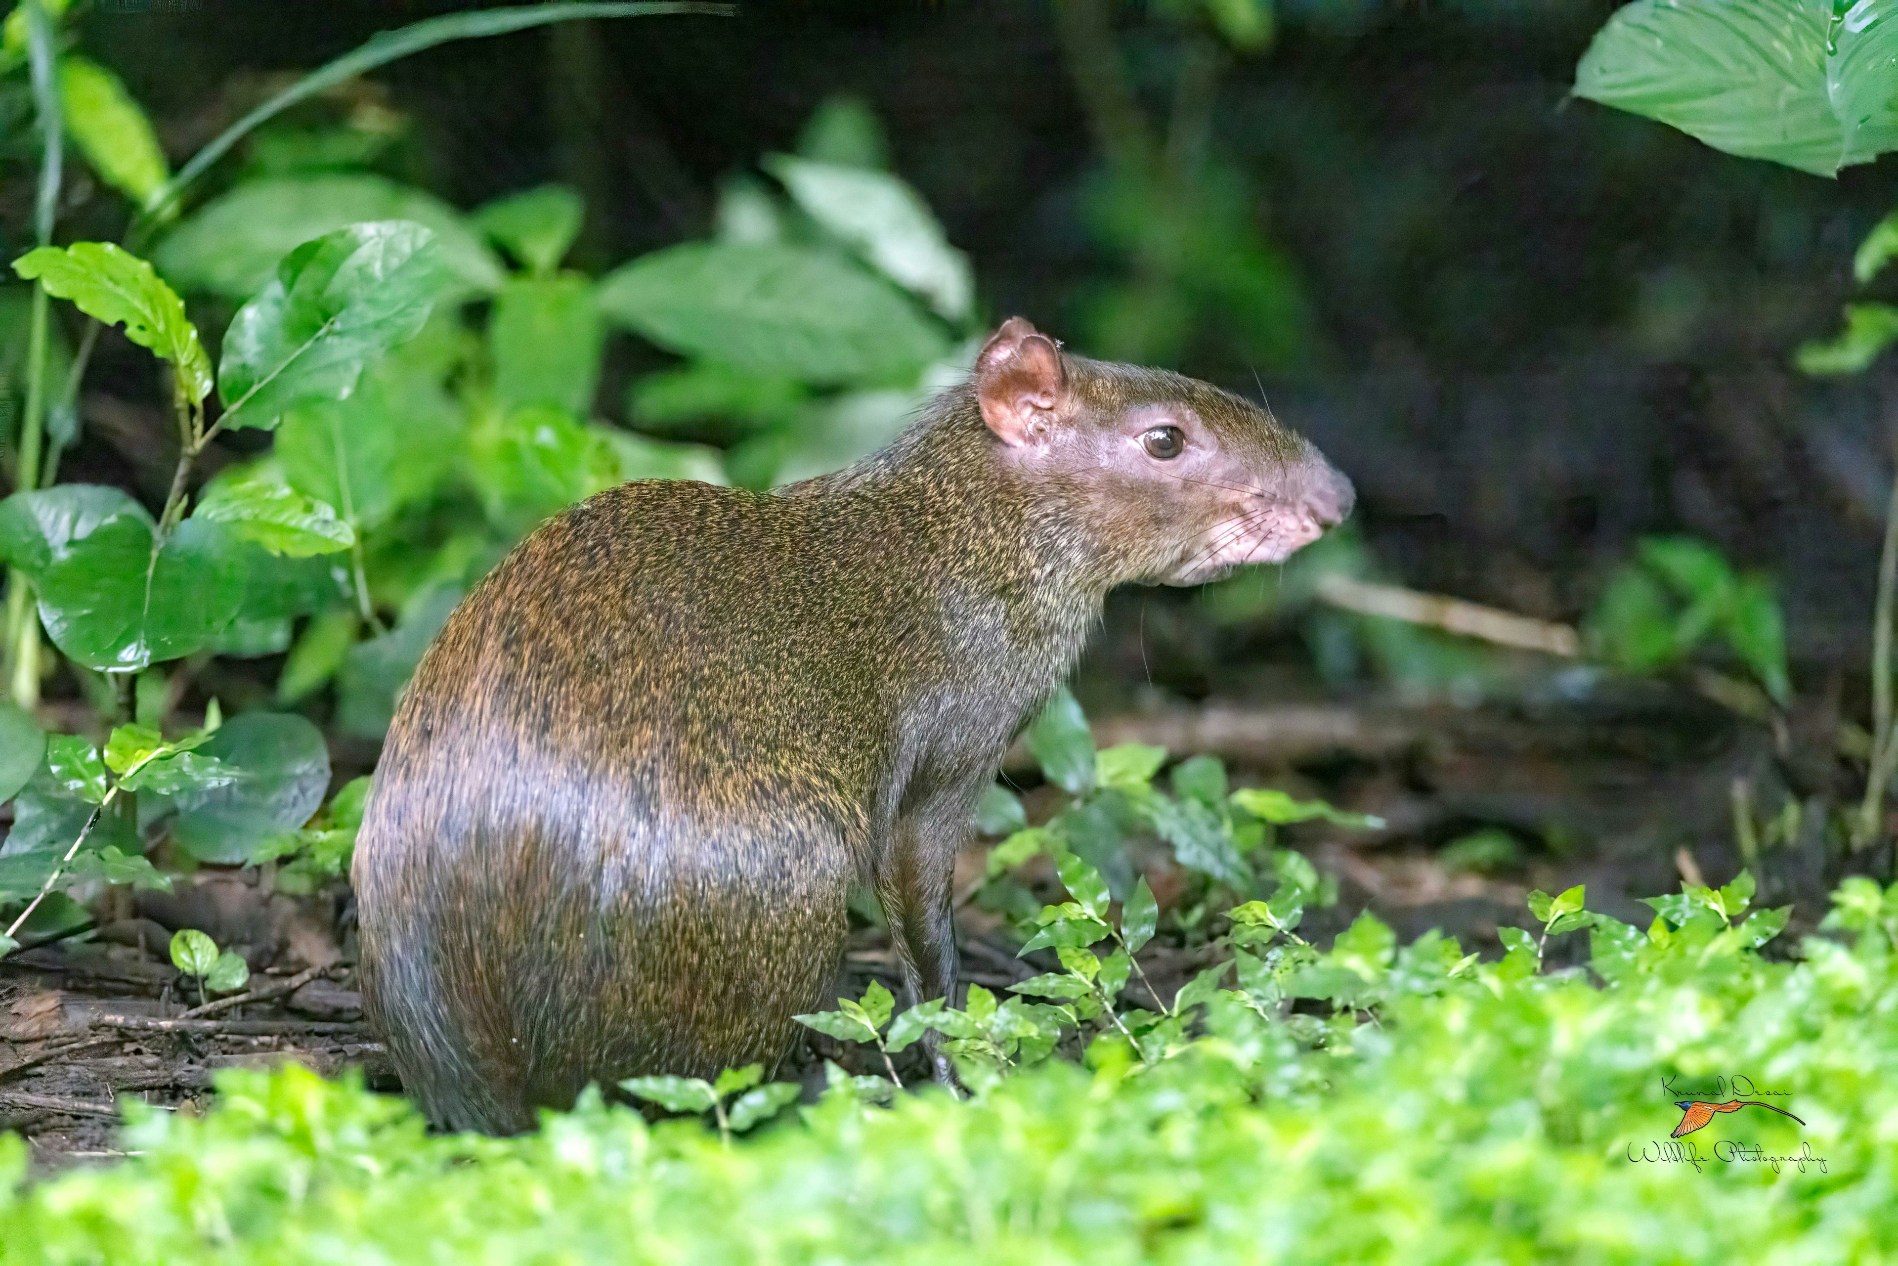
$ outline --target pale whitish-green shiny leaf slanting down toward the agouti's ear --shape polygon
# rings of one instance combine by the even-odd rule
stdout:
[[[951,321],[970,313],[968,256],[949,245],[928,203],[886,171],[790,154],[765,159],[805,214],[856,249],[877,271],[921,294]]]

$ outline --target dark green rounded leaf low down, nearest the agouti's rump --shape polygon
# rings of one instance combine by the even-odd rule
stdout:
[[[232,717],[197,755],[237,771],[235,782],[165,801],[178,812],[171,824],[173,841],[199,862],[251,862],[281,845],[323,807],[330,786],[323,731],[300,716],[247,712]]]

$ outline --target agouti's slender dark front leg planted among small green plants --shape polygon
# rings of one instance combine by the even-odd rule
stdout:
[[[968,814],[943,818],[909,816],[896,824],[890,852],[877,871],[877,898],[890,922],[890,940],[903,959],[911,1006],[926,998],[957,996],[955,949],[955,854]],[[930,1067],[941,1086],[955,1088],[955,1069],[941,1053],[938,1034],[924,1038]]]

